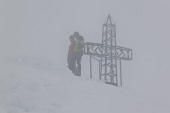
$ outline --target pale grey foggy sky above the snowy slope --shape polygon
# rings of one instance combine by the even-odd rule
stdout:
[[[48,59],[65,68],[69,36],[78,31],[85,42],[101,43],[110,14],[117,45],[133,49],[133,60],[122,62],[123,87],[170,99],[169,12],[169,0],[0,0],[0,57]],[[89,77],[89,56],[82,68]]]

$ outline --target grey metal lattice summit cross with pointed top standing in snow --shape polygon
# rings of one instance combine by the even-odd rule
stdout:
[[[110,15],[102,27],[102,43],[85,43],[84,54],[90,55],[90,75],[92,78],[92,58],[99,61],[99,79],[107,84],[122,85],[121,60],[132,60],[132,49],[116,45],[116,25]],[[118,61],[120,73],[118,75]]]

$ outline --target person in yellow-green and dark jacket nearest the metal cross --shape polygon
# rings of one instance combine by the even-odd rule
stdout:
[[[83,56],[83,48],[84,48],[84,38],[83,36],[79,35],[79,33],[76,31],[74,32],[74,38],[77,40],[76,45],[74,47],[74,60],[77,62],[77,76],[81,76],[81,59]]]

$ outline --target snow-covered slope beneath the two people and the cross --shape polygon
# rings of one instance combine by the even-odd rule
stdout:
[[[72,75],[55,61],[1,59],[0,113],[169,113],[170,104]]]

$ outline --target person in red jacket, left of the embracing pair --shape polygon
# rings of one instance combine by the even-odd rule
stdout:
[[[75,57],[75,53],[74,53],[74,48],[75,48],[75,45],[76,45],[76,41],[74,39],[74,36],[71,35],[69,37],[70,39],[70,46],[69,46],[69,50],[68,50],[68,57],[67,57],[67,62],[68,62],[68,68],[72,71],[72,73],[76,73],[76,64],[75,64],[75,60],[74,60],[74,57]]]

